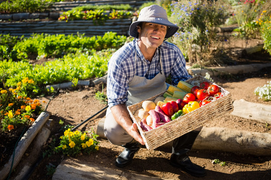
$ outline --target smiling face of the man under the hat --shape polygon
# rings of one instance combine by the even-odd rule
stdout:
[[[152,22],[143,22],[138,28],[139,38],[147,47],[157,48],[165,39],[167,26]]]

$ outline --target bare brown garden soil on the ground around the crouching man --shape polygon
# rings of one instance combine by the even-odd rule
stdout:
[[[240,59],[238,63],[250,63],[259,61],[260,57],[249,59]],[[270,60],[270,59],[269,59]],[[227,75],[221,77],[212,77],[213,81],[224,87],[232,94],[233,100],[245,99],[250,102],[271,104],[271,101],[263,101],[253,93],[258,86],[263,86],[268,80],[271,80],[271,67],[263,68],[257,72],[247,74]],[[106,94],[106,84],[102,82],[95,86],[81,86],[67,89],[60,89],[56,95],[45,96],[39,98],[47,101],[47,111],[52,115],[54,128],[47,144],[44,146],[43,152],[50,149],[52,139],[58,139],[61,134],[59,128],[59,120],[63,120],[64,124],[76,126],[89,118],[100,109],[106,106],[95,98],[96,92],[104,92]],[[46,106],[45,106],[46,107]],[[254,109],[247,109],[248,111]],[[96,130],[97,124],[101,118],[105,116],[105,110],[89,119],[86,123],[78,127],[77,130],[91,131]],[[221,118],[211,120],[206,127],[228,127],[236,130],[247,130],[252,132],[271,133],[270,124],[261,123],[255,120],[249,120],[242,117],[225,114]],[[111,144],[108,140],[98,138],[99,150],[97,152],[80,154],[76,157],[63,156],[59,154],[51,154],[50,157],[42,158],[32,168],[28,179],[52,179],[54,168],[57,167],[63,159],[69,162],[77,162],[81,164],[94,164],[109,169],[118,169],[125,172],[139,173],[149,176],[156,176],[166,179],[271,179],[271,156],[255,156],[240,152],[217,151],[210,149],[192,149],[189,152],[191,160],[205,167],[207,174],[205,177],[193,177],[186,174],[181,169],[173,167],[169,164],[171,148],[158,147],[149,150],[145,146],[135,154],[132,163],[126,167],[118,168],[114,165],[115,158],[123,150],[123,147]],[[30,146],[24,154],[22,162],[15,169],[11,179],[15,178],[15,174],[20,172],[22,167],[31,161],[29,150],[35,147]],[[213,163],[214,159],[224,161],[226,164]],[[91,173],[91,172],[89,172]]]

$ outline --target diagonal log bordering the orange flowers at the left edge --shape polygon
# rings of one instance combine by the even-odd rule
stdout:
[[[35,122],[32,124],[32,126],[26,131],[24,136],[21,138],[21,140],[18,142],[18,145],[15,149],[15,157],[13,162],[13,156],[10,158],[9,162],[4,165],[4,167],[0,171],[0,177],[5,179],[11,169],[12,162],[13,167],[12,170],[18,165],[21,158],[23,157],[25,151],[27,150],[30,143],[33,141],[33,139],[36,137],[39,130],[42,128],[42,126],[45,124],[45,122],[49,119],[49,112],[42,112],[38,118],[35,120]]]

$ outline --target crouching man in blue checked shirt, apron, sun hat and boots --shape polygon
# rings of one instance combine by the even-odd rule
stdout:
[[[166,77],[172,84],[191,78],[180,49],[165,39],[174,35],[179,27],[168,20],[167,12],[159,5],[141,10],[137,21],[129,28],[135,39],[118,49],[108,62],[108,109],[104,134],[108,140],[124,150],[115,165],[128,165],[134,154],[144,145],[137,125],[129,116],[127,105],[147,99],[167,89]],[[172,165],[195,176],[204,176],[204,168],[192,163],[187,155],[198,133],[191,131],[173,142]]]

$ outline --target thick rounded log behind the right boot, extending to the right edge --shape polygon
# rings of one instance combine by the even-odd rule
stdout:
[[[193,148],[271,155],[270,139],[270,133],[239,131],[226,127],[203,127]]]

